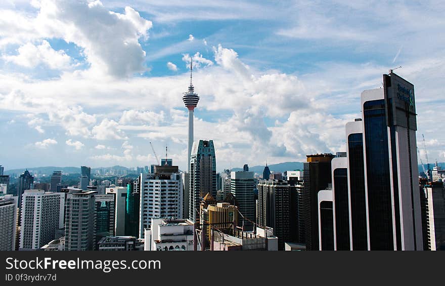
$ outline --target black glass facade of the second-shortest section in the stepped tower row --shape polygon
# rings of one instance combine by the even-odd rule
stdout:
[[[334,170],[335,232],[337,250],[350,250],[347,169]]]

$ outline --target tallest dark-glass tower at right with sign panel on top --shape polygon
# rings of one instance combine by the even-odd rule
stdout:
[[[361,95],[368,249],[422,250],[414,86],[383,75]]]

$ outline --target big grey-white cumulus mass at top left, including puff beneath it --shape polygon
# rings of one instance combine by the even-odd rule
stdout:
[[[144,19],[131,7],[124,13],[109,11],[100,1],[78,2],[42,0],[36,5],[36,17],[23,16],[13,11],[0,11],[0,45],[21,44],[43,38],[63,38],[82,48],[91,70],[95,73],[122,77],[147,69],[146,53],[139,39],[148,38],[152,22]],[[26,44],[19,55],[7,58],[20,65],[35,66],[45,63],[51,68],[65,66],[69,57],[54,51],[48,42],[40,46]],[[33,59],[32,55],[38,55]]]

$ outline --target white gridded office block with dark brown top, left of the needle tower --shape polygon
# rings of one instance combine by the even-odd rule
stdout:
[[[141,174],[140,192],[140,238],[152,218],[182,218],[183,182],[177,166],[155,166],[155,174]]]

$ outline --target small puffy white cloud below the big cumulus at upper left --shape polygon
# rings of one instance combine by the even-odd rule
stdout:
[[[40,64],[47,65],[52,69],[70,67],[71,58],[63,50],[53,50],[47,40],[43,40],[39,46],[27,43],[21,46],[17,52],[16,56],[3,56],[3,58],[8,62],[27,68],[34,68]]]

